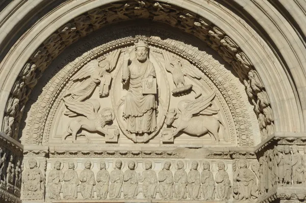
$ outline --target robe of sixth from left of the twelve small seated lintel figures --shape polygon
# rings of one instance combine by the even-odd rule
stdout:
[[[123,195],[124,198],[136,198],[138,195],[138,177],[135,170],[127,169],[124,172]]]

